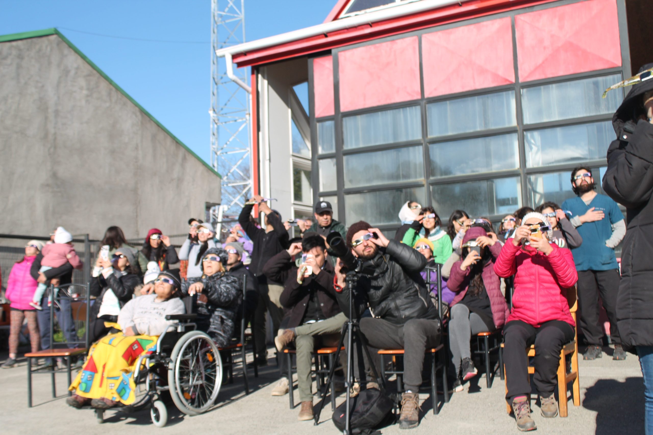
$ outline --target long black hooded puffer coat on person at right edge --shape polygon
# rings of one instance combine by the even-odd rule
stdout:
[[[639,119],[638,108],[649,91],[653,80],[633,86],[614,113],[617,139],[608,149],[603,177],[603,190],[626,206],[616,317],[624,348],[631,352],[633,346],[653,346],[653,125]]]

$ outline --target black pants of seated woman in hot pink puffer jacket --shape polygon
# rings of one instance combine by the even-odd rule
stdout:
[[[539,328],[521,320],[506,323],[503,327],[506,400],[512,402],[515,397],[530,395],[526,349],[532,344],[535,344],[533,383],[539,395],[549,397],[556,389],[560,350],[573,337],[573,327],[561,320],[542,323]]]

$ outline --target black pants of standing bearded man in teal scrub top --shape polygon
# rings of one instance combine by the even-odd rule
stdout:
[[[603,327],[599,325],[599,294],[610,321],[610,338],[621,343],[616,327],[616,296],[619,291],[619,269],[609,271],[578,271],[579,327],[588,344],[603,344]]]

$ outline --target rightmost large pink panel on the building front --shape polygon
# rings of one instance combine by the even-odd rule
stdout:
[[[522,82],[621,66],[616,0],[515,16]]]

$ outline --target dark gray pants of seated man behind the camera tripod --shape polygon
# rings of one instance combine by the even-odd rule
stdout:
[[[360,319],[360,332],[371,348],[404,349],[404,385],[406,390],[417,393],[422,383],[424,352],[427,347],[434,348],[440,342],[439,321],[411,319],[404,325],[395,325],[387,320],[366,317]],[[373,359],[377,359],[375,353],[371,355]],[[364,359],[366,367],[369,367],[370,362],[366,361],[365,357]],[[354,366],[357,366],[356,362]],[[366,371],[369,373],[369,370]]]

